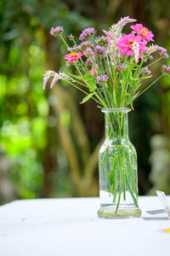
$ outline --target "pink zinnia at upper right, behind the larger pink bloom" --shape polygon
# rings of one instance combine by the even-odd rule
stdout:
[[[143,39],[144,44],[147,44],[149,41],[154,41],[154,35],[152,34],[152,32],[150,32],[142,24],[136,24],[130,27],[133,29],[133,34],[137,33]]]

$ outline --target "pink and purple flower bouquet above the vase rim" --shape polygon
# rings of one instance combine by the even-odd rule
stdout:
[[[48,70],[44,74],[43,89],[50,77],[53,78],[50,88],[59,79],[63,79],[86,95],[81,103],[92,98],[99,108],[133,108],[133,101],[138,96],[161,76],[170,74],[170,67],[163,65],[161,76],[145,89],[141,88],[142,80],[152,76],[149,67],[168,55],[167,49],[157,44],[148,45],[154,41],[154,35],[142,24],[131,26],[130,34],[122,33],[123,26],[135,21],[129,17],[122,18],[97,38],[94,27],[86,28],[79,37],[79,44],[74,36],[68,36],[72,45],[65,42],[63,27],[52,27],[50,34],[59,36],[69,52],[64,56],[65,65],[75,67],[75,73]],[[159,56],[156,61],[152,61],[154,52],[158,52]]]

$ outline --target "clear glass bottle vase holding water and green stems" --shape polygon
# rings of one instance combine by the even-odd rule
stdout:
[[[137,154],[128,137],[130,108],[105,108],[105,142],[99,150],[99,218],[138,218]]]

